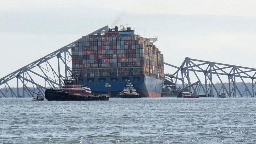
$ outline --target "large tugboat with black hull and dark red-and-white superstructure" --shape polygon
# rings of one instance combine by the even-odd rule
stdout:
[[[78,84],[79,80],[68,76],[64,80],[64,86],[59,89],[46,89],[45,98],[50,100],[109,100],[107,94],[93,94],[88,86]]]

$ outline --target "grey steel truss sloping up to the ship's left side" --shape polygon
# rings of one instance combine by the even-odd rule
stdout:
[[[107,30],[108,26],[105,26],[89,35],[101,34]],[[45,89],[59,88],[64,84],[63,79],[67,77],[67,73],[73,73],[71,46],[76,42],[78,40],[1,78],[0,97],[35,97],[38,92],[44,96]]]

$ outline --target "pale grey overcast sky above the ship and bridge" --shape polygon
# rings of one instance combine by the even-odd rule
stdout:
[[[0,78],[103,26],[125,24],[158,36],[167,63],[190,57],[256,68],[255,7],[249,0],[0,0]]]

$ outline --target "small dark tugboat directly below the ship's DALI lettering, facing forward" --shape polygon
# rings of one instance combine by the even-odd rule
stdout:
[[[136,89],[128,80],[123,91],[118,95],[119,98],[140,98],[140,95],[136,92]]]

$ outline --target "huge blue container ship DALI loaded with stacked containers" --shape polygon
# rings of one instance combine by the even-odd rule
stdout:
[[[163,54],[154,40],[117,26],[84,36],[71,47],[72,71],[95,94],[117,97],[130,80],[141,97],[161,97]]]

